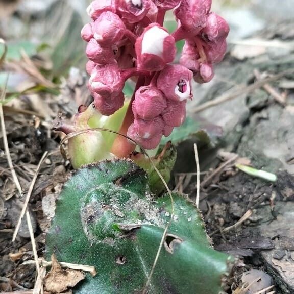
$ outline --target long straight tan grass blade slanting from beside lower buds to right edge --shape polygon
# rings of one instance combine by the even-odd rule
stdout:
[[[270,82],[274,82],[282,77],[284,77],[285,75],[289,75],[292,74],[294,72],[294,69],[289,69],[289,70],[285,70],[283,72],[280,72],[280,74],[277,74],[275,76],[266,78],[264,80],[260,80],[260,81],[256,81],[255,83],[251,84],[251,85],[239,85],[234,87],[233,89],[225,92],[224,94],[216,97],[214,100],[209,101],[207,103],[203,103],[197,107],[195,107],[194,109],[192,109],[192,112],[197,113],[197,112],[201,112],[207,108],[216,106],[218,104],[224,103],[226,101],[235,99],[237,97],[239,97],[240,95],[243,95],[244,93],[250,93],[256,89],[259,89],[260,87],[263,87],[265,84],[270,83]]]

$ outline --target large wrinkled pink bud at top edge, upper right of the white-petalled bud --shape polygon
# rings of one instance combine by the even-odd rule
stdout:
[[[175,10],[181,27],[187,32],[197,35],[206,27],[207,14],[211,8],[212,0],[182,0]]]

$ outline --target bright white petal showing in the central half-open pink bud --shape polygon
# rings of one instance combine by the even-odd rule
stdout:
[[[152,27],[143,36],[142,54],[154,54],[162,57],[163,41],[169,34],[158,27]]]

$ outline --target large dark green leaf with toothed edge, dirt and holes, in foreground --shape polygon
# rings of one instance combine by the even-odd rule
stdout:
[[[130,160],[78,170],[64,185],[46,236],[47,256],[93,265],[74,292],[141,293],[171,214],[149,294],[218,294],[234,260],[213,250],[200,212],[173,194],[153,201],[147,178]]]

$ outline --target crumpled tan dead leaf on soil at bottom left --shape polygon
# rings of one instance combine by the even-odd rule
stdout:
[[[51,256],[52,266],[44,279],[45,290],[51,293],[69,291],[68,287],[76,286],[85,279],[85,275],[76,269],[62,269],[55,255]]]

